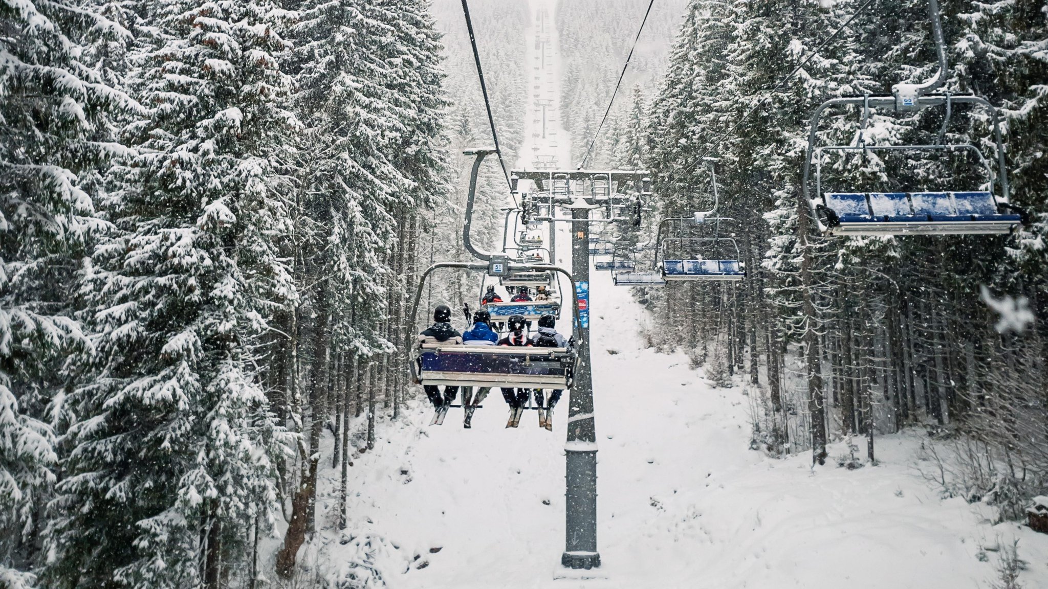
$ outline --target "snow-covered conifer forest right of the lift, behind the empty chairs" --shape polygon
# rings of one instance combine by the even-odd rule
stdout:
[[[759,391],[755,448],[811,450],[824,463],[827,443],[854,437],[857,444],[865,436],[873,460],[875,433],[922,426],[965,440],[955,490],[1014,518],[1048,485],[1048,23],[1044,2],[1033,0],[941,5],[952,64],[943,90],[999,108],[1011,201],[1032,213],[1030,226],[1011,236],[825,237],[801,202],[809,117],[818,104],[890,94],[892,84],[934,73],[925,0],[693,0],[646,111],[643,160],[660,216],[689,217],[712,206],[703,158],[718,158],[718,213],[735,219],[719,236],[738,241],[747,277],[738,285],[640,293],[655,311],[651,345],[687,350],[715,383],[730,385],[729,376],[742,373]],[[829,114],[818,139],[856,145],[861,117],[857,108]],[[927,145],[943,119],[941,108],[876,111],[863,139]],[[955,106],[944,134],[995,161],[984,113]],[[908,151],[836,159],[824,168],[824,187],[985,186],[978,161],[949,157]],[[670,224],[667,235],[709,237],[717,231],[711,225]],[[651,253],[645,256],[651,263]],[[987,302],[1031,321],[1021,331],[1005,329]]]

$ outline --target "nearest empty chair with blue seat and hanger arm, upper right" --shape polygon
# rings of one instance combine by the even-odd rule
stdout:
[[[1025,211],[1008,201],[1008,176],[1004,144],[997,109],[985,99],[971,94],[931,94],[945,81],[948,65],[939,17],[938,0],[929,0],[932,32],[938,53],[935,78],[922,84],[896,84],[890,96],[851,96],[832,99],[820,105],[811,116],[808,148],[804,160],[802,195],[810,206],[818,230],[827,235],[976,235],[1007,234],[1029,222]],[[824,111],[837,106],[860,108],[861,122],[852,145],[817,146],[818,124]],[[945,131],[955,105],[973,105],[989,113],[994,127],[997,171],[970,144],[945,144]],[[931,145],[867,145],[866,131],[871,109],[911,112],[927,107],[944,107],[942,127]],[[827,191],[823,192],[825,153],[863,153],[872,151],[970,152],[976,155],[986,176],[982,187],[966,191]],[[815,163],[814,196],[810,195],[811,165]]]

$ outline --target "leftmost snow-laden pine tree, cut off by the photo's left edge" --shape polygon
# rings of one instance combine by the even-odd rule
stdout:
[[[66,386],[90,351],[70,293],[103,226],[94,170],[125,153],[112,117],[138,107],[81,59],[113,23],[62,1],[4,1],[0,23],[0,585],[24,587]]]

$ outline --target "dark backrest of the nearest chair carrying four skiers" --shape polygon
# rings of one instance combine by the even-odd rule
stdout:
[[[575,353],[567,348],[423,344],[422,385],[569,389]]]

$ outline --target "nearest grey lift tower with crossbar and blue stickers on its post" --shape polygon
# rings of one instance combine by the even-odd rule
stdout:
[[[530,192],[518,189],[522,180],[528,182]],[[638,170],[533,170],[514,171],[509,182],[528,221],[571,223],[571,275],[580,317],[573,335],[578,364],[568,402],[566,525],[561,564],[576,569],[599,567],[596,424],[589,337],[589,225],[611,222],[638,225],[640,203],[651,195],[651,175]],[[559,219],[555,209],[570,211],[570,219]],[[552,230],[550,225],[550,235],[554,233]]]

